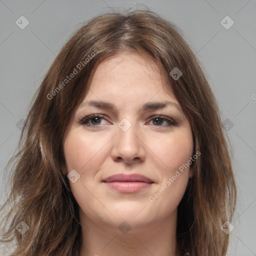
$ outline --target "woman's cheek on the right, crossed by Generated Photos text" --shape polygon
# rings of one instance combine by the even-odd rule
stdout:
[[[192,133],[184,128],[153,142],[153,152],[161,160],[161,180],[148,199],[155,209],[168,215],[178,206],[187,186],[190,167],[187,162],[193,154]]]

